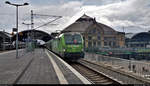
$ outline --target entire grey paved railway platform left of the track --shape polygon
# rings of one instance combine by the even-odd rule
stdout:
[[[46,49],[0,53],[0,84],[91,84],[62,59]]]

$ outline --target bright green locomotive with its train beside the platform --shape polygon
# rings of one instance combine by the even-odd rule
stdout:
[[[83,37],[77,32],[62,33],[48,41],[46,47],[64,60],[76,61],[84,58]]]

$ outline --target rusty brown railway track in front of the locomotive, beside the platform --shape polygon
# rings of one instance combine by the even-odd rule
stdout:
[[[83,62],[84,60],[82,60]],[[70,65],[90,80],[93,84],[120,84],[119,82],[103,75],[102,73],[96,71],[94,67],[87,67],[81,61],[76,63],[70,63]]]

